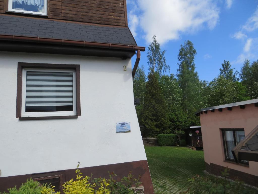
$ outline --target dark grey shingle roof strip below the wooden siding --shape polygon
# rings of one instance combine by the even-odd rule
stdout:
[[[128,27],[0,16],[0,34],[137,45]]]

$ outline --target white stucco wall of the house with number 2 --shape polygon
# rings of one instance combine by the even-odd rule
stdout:
[[[18,62],[80,64],[82,116],[15,118]],[[0,52],[1,177],[146,160],[131,71],[130,59]],[[119,121],[131,122],[131,133],[116,133]]]

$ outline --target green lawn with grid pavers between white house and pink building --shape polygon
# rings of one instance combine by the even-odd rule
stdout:
[[[187,190],[187,178],[204,175],[203,151],[188,147],[145,146],[155,194],[178,194]]]

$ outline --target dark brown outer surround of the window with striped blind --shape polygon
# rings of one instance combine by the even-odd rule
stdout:
[[[73,69],[76,73],[76,116],[49,116],[49,117],[21,117],[22,107],[22,69]],[[55,118],[78,118],[80,111],[80,65],[73,64],[50,64],[50,63],[21,63],[18,62],[17,68],[17,98],[16,98],[16,118],[19,120],[55,119]]]

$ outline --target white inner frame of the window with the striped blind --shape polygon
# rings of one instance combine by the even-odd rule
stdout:
[[[63,72],[72,73],[72,101],[73,111],[56,111],[56,112],[30,112],[26,113],[26,79],[27,71],[38,72]],[[76,72],[75,70],[63,69],[37,69],[37,68],[24,68],[22,69],[22,99],[21,99],[21,117],[48,117],[48,116],[75,116],[76,112]]]

